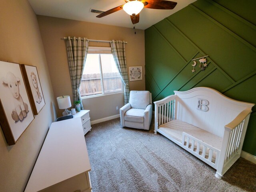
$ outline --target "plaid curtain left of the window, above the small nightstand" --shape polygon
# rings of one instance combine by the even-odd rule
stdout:
[[[84,109],[82,104],[79,87],[81,84],[82,74],[84,70],[84,64],[86,56],[88,53],[89,41],[87,38],[73,37],[73,39],[68,36],[66,39],[66,46],[68,52],[68,65],[71,77],[73,98],[75,100],[80,100],[81,109]]]

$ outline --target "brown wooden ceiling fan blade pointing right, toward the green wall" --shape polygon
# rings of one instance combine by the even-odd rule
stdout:
[[[177,2],[166,0],[142,0],[144,8],[150,9],[173,9]]]

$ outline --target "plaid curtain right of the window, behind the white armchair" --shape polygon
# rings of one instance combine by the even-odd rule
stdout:
[[[124,42],[114,41],[110,42],[111,52],[114,56],[116,67],[121,74],[122,82],[124,83],[124,104],[129,102],[130,90],[129,90],[129,80],[126,67],[126,57],[125,57],[125,47]]]

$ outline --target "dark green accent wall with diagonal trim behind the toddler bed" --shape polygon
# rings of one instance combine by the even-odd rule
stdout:
[[[145,30],[146,90],[153,101],[207,86],[256,103],[256,1],[197,0]],[[191,61],[208,55],[208,67]],[[256,156],[256,107],[242,150]]]

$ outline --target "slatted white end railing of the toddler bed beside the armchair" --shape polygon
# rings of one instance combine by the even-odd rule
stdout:
[[[155,104],[155,134],[158,126],[175,119],[176,95],[168,96]]]

